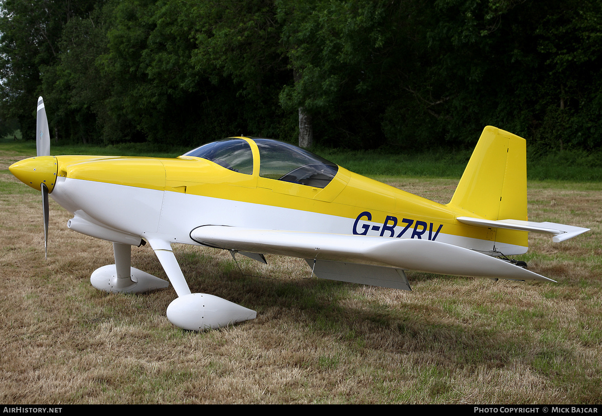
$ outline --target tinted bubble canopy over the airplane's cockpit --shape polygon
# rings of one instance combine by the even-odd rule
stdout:
[[[338,166],[305,149],[279,140],[249,137],[259,150],[259,176],[290,183],[325,188],[337,175]],[[231,138],[207,143],[183,156],[211,160],[223,168],[253,174],[253,153],[249,142]]]

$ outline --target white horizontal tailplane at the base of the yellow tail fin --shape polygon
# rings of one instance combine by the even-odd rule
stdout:
[[[519,219],[498,219],[497,221],[492,221],[491,219],[473,218],[471,216],[459,216],[456,219],[464,224],[476,225],[477,227],[506,228],[507,230],[553,234],[553,242],[565,241],[589,231],[589,228],[556,224],[556,222],[520,221]]]

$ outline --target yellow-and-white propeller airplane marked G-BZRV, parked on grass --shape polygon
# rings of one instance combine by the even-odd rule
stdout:
[[[42,192],[48,253],[49,196],[67,227],[113,242],[115,263],[96,269],[107,292],[167,288],[167,318],[186,330],[256,317],[252,309],[192,293],[173,244],[216,247],[266,263],[265,254],[305,259],[318,278],[411,290],[405,271],[554,282],[507,256],[526,253],[529,232],[565,241],[588,228],[527,220],[526,142],[485,127],[448,204],[363,177],[289,143],[230,137],[175,159],[50,156],[42,97],[37,156],[10,166]],[[169,279],[131,266],[148,242]]]

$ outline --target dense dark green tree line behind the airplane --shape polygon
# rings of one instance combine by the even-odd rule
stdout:
[[[2,127],[39,95],[65,142],[597,150],[602,1],[0,0]]]

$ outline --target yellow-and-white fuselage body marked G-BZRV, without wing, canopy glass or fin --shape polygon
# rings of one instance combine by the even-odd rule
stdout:
[[[116,241],[111,238],[114,232],[131,238],[128,244],[151,234],[172,243],[198,244],[190,238],[193,228],[231,225],[358,238],[428,239],[488,254],[527,250],[512,241],[496,241],[491,228],[456,220],[474,213],[426,200],[344,168],[339,167],[324,188],[262,177],[255,142],[244,140],[253,154],[252,168],[246,173],[194,156],[46,157],[51,158],[48,164],[55,163],[56,172],[50,195],[73,213],[73,229]],[[19,163],[26,170],[23,166],[27,161]],[[47,168],[49,172],[52,169]],[[76,227],[78,221],[88,227]],[[87,232],[95,227],[96,232]]]

